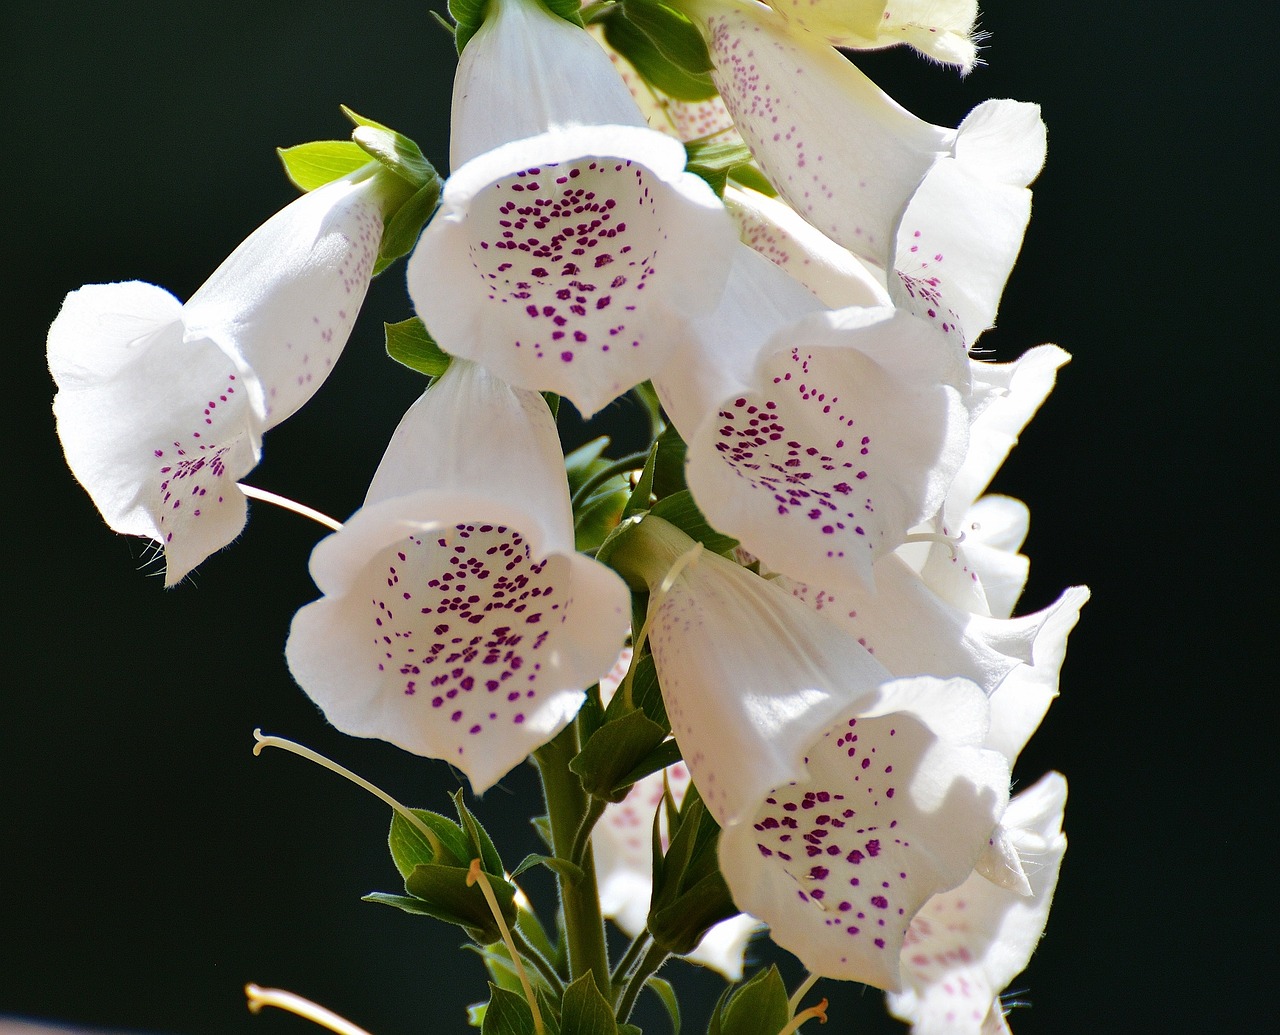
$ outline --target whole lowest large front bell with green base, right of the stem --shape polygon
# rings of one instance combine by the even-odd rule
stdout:
[[[730,560],[673,568],[681,537],[650,522],[612,560],[650,585],[667,714],[723,828],[733,901],[812,972],[896,989],[910,919],[969,875],[1007,802],[1009,764],[982,748],[986,695],[893,679]]]

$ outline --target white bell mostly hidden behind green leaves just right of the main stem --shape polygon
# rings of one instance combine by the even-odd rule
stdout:
[[[631,649],[623,651],[627,661]],[[600,697],[607,702],[626,672],[617,669],[600,681]],[[664,783],[666,779],[666,783]],[[620,802],[605,806],[591,833],[595,875],[600,888],[600,911],[628,936],[644,929],[653,896],[653,824],[666,789],[678,807],[689,789],[689,768],[684,762],[650,773]],[[659,820],[660,823],[660,820]],[[667,849],[663,825],[660,847]],[[687,960],[723,974],[730,981],[742,977],[746,945],[760,922],[746,913],[722,920],[703,935]]]

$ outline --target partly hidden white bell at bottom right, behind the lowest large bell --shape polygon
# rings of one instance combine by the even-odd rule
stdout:
[[[911,920],[902,945],[902,990],[888,995],[888,1009],[914,1035],[1009,1031],[998,995],[1027,966],[1044,931],[1066,851],[1065,803],[1066,780],[1057,773],[1009,802],[1004,825],[1027,873],[1028,894],[974,874],[931,898]]]

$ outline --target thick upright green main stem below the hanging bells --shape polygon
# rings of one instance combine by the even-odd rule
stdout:
[[[577,750],[575,723],[534,752],[534,761],[543,779],[543,797],[547,800],[552,852],[558,858],[571,857],[573,838],[582,825],[590,803],[582,783],[568,768]],[[584,974],[591,974],[595,986],[607,989],[609,954],[604,945],[604,916],[600,913],[600,893],[595,883],[595,860],[590,847],[582,853],[581,866],[580,880],[557,875],[564,936],[568,944],[568,976],[572,983]]]

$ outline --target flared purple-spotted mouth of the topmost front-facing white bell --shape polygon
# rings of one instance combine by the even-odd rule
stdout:
[[[728,276],[732,221],[684,161],[654,130],[588,127],[467,162],[408,264],[419,315],[445,352],[596,412]]]

